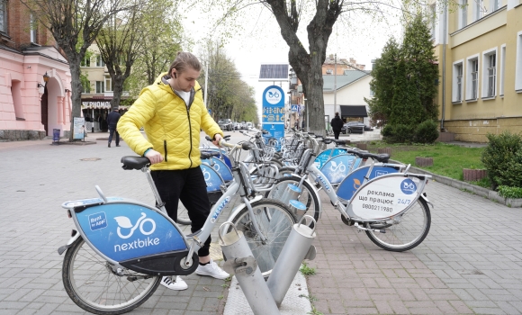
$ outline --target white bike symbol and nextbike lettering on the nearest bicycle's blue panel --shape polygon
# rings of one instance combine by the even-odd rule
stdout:
[[[141,212],[141,217],[136,221],[136,224],[132,224],[129,218],[127,217],[114,217],[114,220],[118,222],[118,229],[116,232],[120,238],[126,239],[130,238],[136,229],[139,229],[139,232],[148,236],[156,230],[156,222],[150,218],[146,218],[147,214]],[[145,224],[145,223],[149,224]],[[123,229],[123,234],[121,230]],[[130,230],[129,230],[130,229]],[[114,252],[118,252],[121,250],[129,250],[129,249],[137,249],[142,247],[156,246],[159,245],[159,238],[144,238],[144,239],[134,239],[129,243],[116,244],[114,245]]]

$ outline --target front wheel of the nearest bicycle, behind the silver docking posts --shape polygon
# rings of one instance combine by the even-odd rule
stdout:
[[[243,232],[261,273],[268,276],[272,272],[279,254],[281,254],[286,238],[293,229],[295,218],[283,202],[261,199],[250,203],[250,205],[256,215],[259,229],[267,238],[266,244],[262,244],[258,239],[246,207],[239,211],[231,221],[236,229]],[[229,226],[227,232],[232,232],[231,226]]]

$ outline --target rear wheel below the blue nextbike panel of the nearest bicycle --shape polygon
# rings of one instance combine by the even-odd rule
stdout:
[[[160,276],[143,275],[130,269],[122,272],[124,275],[113,273],[111,264],[79,237],[67,248],[62,281],[68,296],[83,310],[100,315],[117,315],[132,311],[146,302],[161,281]],[[130,280],[132,276],[144,278]]]

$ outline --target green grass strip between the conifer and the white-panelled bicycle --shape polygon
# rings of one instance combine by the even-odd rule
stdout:
[[[463,168],[484,168],[481,161],[484,148],[465,148],[444,142],[437,142],[433,145],[407,145],[372,141],[368,144],[368,150],[371,152],[377,152],[378,148],[392,148],[393,160],[411,164],[411,166],[415,166],[415,157],[433,157],[433,166],[415,167],[460,181],[464,179]]]

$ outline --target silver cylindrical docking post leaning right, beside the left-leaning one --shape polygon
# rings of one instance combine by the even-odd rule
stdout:
[[[303,216],[299,223],[293,225],[293,230],[286,239],[283,250],[281,250],[281,254],[279,254],[275,262],[272,274],[270,274],[266,282],[277,306],[280,306],[281,302],[283,302],[284,295],[288,292],[293,278],[299,271],[302,260],[307,257],[311,259],[315,257],[315,247],[311,245],[316,237],[315,228],[311,229],[301,224],[306,217],[313,221],[314,227],[317,226],[315,220],[310,215]]]

